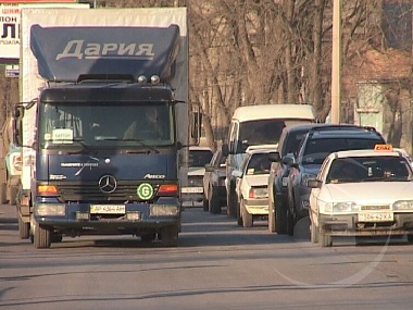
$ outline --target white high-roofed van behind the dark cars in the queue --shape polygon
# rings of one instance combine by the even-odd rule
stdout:
[[[247,148],[278,146],[283,128],[296,124],[314,123],[313,107],[310,104],[258,104],[239,107],[230,121],[227,144],[223,153],[227,156],[225,186],[227,193],[227,213],[237,215],[236,177]]]

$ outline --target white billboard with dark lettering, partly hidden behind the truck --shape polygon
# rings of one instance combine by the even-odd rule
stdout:
[[[77,3],[77,0],[1,1],[0,2],[0,64],[18,64],[20,18],[21,18],[21,10],[24,8],[89,9],[90,7],[88,3]]]

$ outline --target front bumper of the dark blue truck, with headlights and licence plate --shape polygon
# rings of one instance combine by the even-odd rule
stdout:
[[[180,222],[180,206],[177,203],[37,203],[34,210],[36,222],[66,234],[134,234],[142,228]]]

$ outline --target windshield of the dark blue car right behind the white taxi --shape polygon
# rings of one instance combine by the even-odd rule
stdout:
[[[361,138],[312,139],[305,146],[301,161],[303,164],[322,164],[331,152],[374,149],[377,142],[380,141],[377,139]]]

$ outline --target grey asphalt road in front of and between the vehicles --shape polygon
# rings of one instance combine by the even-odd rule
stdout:
[[[35,249],[0,207],[0,309],[412,309],[413,246],[347,239],[320,248],[187,208],[177,248],[132,236]]]

